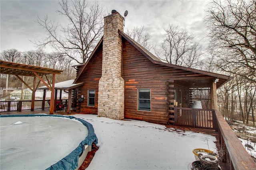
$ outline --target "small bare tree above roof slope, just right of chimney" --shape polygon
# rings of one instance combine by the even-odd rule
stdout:
[[[130,36],[133,40],[135,40],[137,43],[142,45],[145,49],[150,51],[152,49],[152,44],[150,44],[149,40],[152,37],[150,32],[147,32],[144,29],[144,26],[136,26],[132,28],[131,30],[127,30],[126,34]]]

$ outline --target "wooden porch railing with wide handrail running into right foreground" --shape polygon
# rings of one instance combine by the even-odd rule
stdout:
[[[214,129],[218,132],[218,142],[230,170],[256,170],[256,164],[245,150],[241,141],[223,118],[220,111],[212,109],[192,109],[176,107],[175,125]]]

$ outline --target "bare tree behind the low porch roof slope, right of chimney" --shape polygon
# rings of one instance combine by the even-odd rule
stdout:
[[[202,46],[194,42],[194,36],[178,25],[169,24],[164,30],[165,38],[160,43],[160,50],[155,49],[156,55],[171,64],[198,67]]]

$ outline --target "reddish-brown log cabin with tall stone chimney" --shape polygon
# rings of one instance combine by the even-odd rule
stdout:
[[[74,83],[83,83],[76,89],[84,97],[80,112],[167,124],[174,123],[174,107],[191,107],[193,100],[217,109],[216,89],[232,77],[164,63],[123,30],[124,18],[112,10],[92,55],[74,66]]]

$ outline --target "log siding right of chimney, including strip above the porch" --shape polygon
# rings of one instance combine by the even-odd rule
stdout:
[[[124,117],[154,123],[174,123],[174,89],[178,94],[182,107],[189,107],[189,88],[175,83],[188,79],[211,78],[210,76],[193,73],[152,63],[134,45],[123,38],[122,77],[125,80]],[[151,89],[151,111],[138,111],[137,90]],[[180,101],[178,101],[178,106]]]

